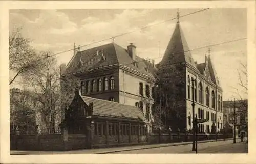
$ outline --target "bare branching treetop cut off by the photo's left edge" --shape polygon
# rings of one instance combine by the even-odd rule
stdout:
[[[9,69],[14,71],[15,75],[10,79],[9,85],[24,73],[38,67],[38,56],[30,45],[31,40],[21,34],[21,28],[16,28],[9,34]]]

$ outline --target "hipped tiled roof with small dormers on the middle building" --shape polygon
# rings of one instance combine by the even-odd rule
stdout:
[[[102,54],[105,57],[104,60],[102,60]],[[82,65],[80,64],[80,61],[83,62]],[[134,65],[134,62],[137,62],[137,64]],[[67,66],[66,73],[70,74],[80,71],[89,71],[112,64],[122,64],[137,70],[140,73],[155,77],[156,68],[153,68],[152,63],[147,62],[138,56],[136,56],[136,61],[134,61],[129,56],[126,49],[115,43],[109,43],[77,52]],[[148,71],[145,69],[147,66],[150,67]]]

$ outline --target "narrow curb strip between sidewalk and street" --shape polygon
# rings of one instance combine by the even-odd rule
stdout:
[[[227,140],[233,140],[232,138],[226,139]],[[217,141],[224,141],[223,139],[218,139]],[[208,141],[199,141],[197,143],[207,143],[207,142],[215,142],[215,140],[208,140]],[[173,145],[162,145],[162,146],[152,146],[152,147],[147,147],[147,148],[133,148],[133,149],[125,149],[125,150],[113,150],[113,151],[105,151],[105,152],[100,152],[100,153],[92,153],[92,154],[108,154],[108,153],[115,153],[115,152],[123,152],[123,151],[131,151],[131,150],[142,150],[142,149],[152,149],[152,148],[161,148],[161,147],[170,147],[170,146],[179,146],[179,145],[189,145],[192,142],[186,142],[186,143],[177,143]]]

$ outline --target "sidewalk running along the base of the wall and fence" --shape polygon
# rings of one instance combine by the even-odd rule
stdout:
[[[229,138],[226,140],[232,140],[232,138]],[[198,141],[197,143],[206,143],[206,142],[214,142],[214,141],[215,140],[204,140],[204,141]],[[223,141],[223,139],[219,139],[217,141]],[[114,152],[130,151],[130,150],[141,150],[141,149],[168,147],[168,146],[188,145],[191,143],[192,142],[147,144],[147,145],[136,145],[136,146],[114,147],[114,148],[82,149],[82,150],[72,150],[72,151],[18,151],[18,150],[11,150],[11,155],[106,154],[106,153],[114,153]]]

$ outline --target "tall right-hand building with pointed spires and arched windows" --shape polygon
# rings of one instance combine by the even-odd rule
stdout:
[[[210,51],[205,56],[205,62],[197,64],[190,53],[179,20],[158,69],[160,78],[168,79],[168,84],[175,85],[172,92],[178,95],[174,105],[175,110],[181,112],[180,122],[177,123],[178,127],[172,129],[192,129],[192,79],[195,80],[195,115],[199,119],[208,119],[198,125],[199,132],[215,133],[223,128],[222,88]]]

